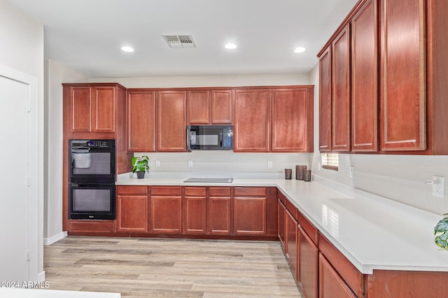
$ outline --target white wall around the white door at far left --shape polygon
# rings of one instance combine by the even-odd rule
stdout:
[[[31,124],[38,128],[38,144],[35,148],[38,153],[38,207],[37,210],[31,210],[37,213],[38,240],[37,243],[29,244],[32,255],[37,255],[34,270],[36,276],[30,276],[30,280],[38,280],[43,278],[43,25],[31,20],[8,1],[0,0],[0,40],[0,64],[36,77],[38,80],[38,103],[36,104],[38,120]],[[8,126],[8,122],[0,119],[0,125]],[[1,168],[1,171],[7,170]],[[8,223],[2,222],[0,218],[0,225],[8,226]],[[2,240],[3,244],[13,245],[8,242],[8,239]]]

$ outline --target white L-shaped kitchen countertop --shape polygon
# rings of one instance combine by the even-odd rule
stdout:
[[[363,274],[374,269],[448,271],[448,251],[434,243],[442,216],[351,188],[346,195],[322,181],[240,179],[185,183],[186,178],[119,178],[135,186],[276,186]]]

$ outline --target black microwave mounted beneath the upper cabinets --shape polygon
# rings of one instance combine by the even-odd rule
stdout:
[[[233,126],[187,126],[187,147],[189,150],[232,150]]]

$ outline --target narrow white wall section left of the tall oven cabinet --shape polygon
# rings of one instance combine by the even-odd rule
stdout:
[[[57,61],[45,59],[45,193],[43,243],[65,236],[62,232],[62,83],[87,82],[87,77]]]

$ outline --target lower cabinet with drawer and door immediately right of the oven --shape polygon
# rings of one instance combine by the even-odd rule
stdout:
[[[117,186],[117,231],[148,232],[148,186]]]

